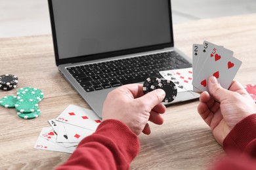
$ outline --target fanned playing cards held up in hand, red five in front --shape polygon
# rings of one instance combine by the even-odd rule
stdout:
[[[200,57],[196,57],[198,58],[196,67],[193,68],[192,84],[194,91],[208,91],[207,81],[210,76],[215,76],[221,86],[228,89],[242,65],[242,61],[234,58],[232,54],[231,50],[223,48],[223,46],[204,41]]]

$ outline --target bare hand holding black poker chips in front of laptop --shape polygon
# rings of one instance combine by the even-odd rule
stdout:
[[[163,124],[160,114],[165,112],[161,103],[165,92],[161,89],[142,92],[142,84],[128,84],[108,93],[103,105],[102,119],[116,119],[126,124],[134,133],[149,135],[148,120]]]

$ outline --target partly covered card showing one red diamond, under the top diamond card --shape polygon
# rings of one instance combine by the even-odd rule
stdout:
[[[79,143],[83,138],[93,134],[95,131],[85,129],[83,127],[74,126],[71,124],[64,124],[68,141],[70,143]]]

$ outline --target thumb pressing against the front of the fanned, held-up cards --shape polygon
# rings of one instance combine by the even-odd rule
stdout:
[[[218,80],[215,76],[211,76],[209,78],[208,90],[211,96],[213,96],[213,98],[219,102],[228,98],[228,95],[229,95],[229,91],[221,87],[221,84],[218,83]]]

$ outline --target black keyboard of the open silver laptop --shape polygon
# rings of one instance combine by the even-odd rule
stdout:
[[[192,67],[177,52],[163,52],[134,58],[67,67],[85,92],[93,92],[144,82],[150,76],[161,78],[159,71]]]

